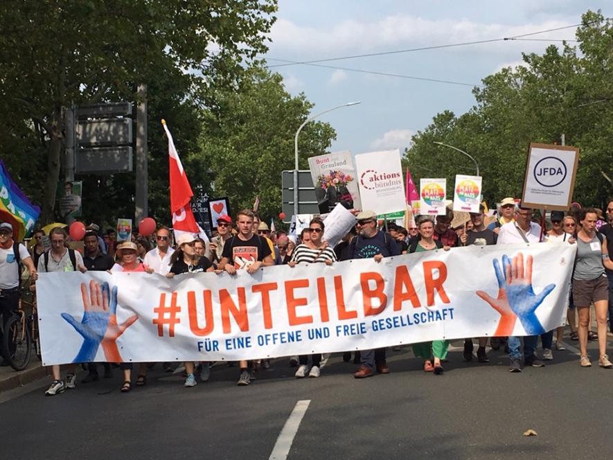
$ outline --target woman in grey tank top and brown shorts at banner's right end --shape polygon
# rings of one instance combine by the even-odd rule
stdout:
[[[607,238],[596,231],[598,214],[592,208],[581,209],[580,229],[577,232],[577,256],[573,272],[573,300],[579,312],[580,365],[592,366],[587,355],[587,330],[589,327],[589,305],[594,303],[598,324],[598,365],[613,368],[607,355],[607,310],[609,303],[609,283],[605,268],[613,270],[613,260],[609,257]]]

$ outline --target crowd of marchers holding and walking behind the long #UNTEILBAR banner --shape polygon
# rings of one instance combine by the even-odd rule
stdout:
[[[48,234],[51,247],[45,248],[42,240],[44,232],[35,231],[30,250],[22,243],[15,242],[11,224],[0,224],[0,312],[7,321],[19,303],[20,264],[24,265],[35,281],[41,272],[107,271],[145,272],[172,278],[186,273],[227,272],[235,274],[245,269],[254,274],[260,267],[287,265],[295,267],[299,263],[325,263],[331,265],[341,260],[373,258],[380,262],[385,257],[410,254],[421,251],[443,249],[467,245],[504,245],[509,243],[547,243],[564,242],[577,245],[577,255],[572,276],[571,294],[567,305],[567,322],[571,340],[577,340],[580,348],[580,366],[592,366],[587,353],[587,342],[598,341],[598,365],[605,369],[613,367],[607,355],[607,330],[613,330],[613,200],[607,204],[606,218],[594,208],[574,209],[568,213],[552,211],[547,220],[537,216],[533,209],[522,206],[513,197],[501,201],[497,215],[487,215],[483,206],[477,213],[470,213],[468,220],[454,225],[454,215],[438,215],[435,219],[419,217],[407,228],[397,224],[382,224],[373,211],[361,211],[356,215],[355,228],[335,247],[323,240],[325,221],[314,218],[299,235],[285,231],[271,231],[261,222],[257,213],[245,209],[236,215],[236,222],[229,215],[217,220],[217,227],[210,242],[198,236],[182,234],[172,244],[172,231],[159,227],[154,240],[134,234],[130,241],[116,242],[114,231],[100,234],[96,224],[87,227],[83,238],[83,254],[71,249],[69,236],[63,227],[55,227]],[[493,302],[487,294],[477,293],[484,300]],[[85,296],[85,294],[84,294]],[[597,330],[590,328],[590,308],[596,315]],[[578,318],[578,321],[577,321]],[[607,319],[608,318],[608,319]],[[67,321],[71,322],[69,319]],[[130,317],[121,325],[114,325],[121,335],[125,328],[136,321]],[[608,321],[608,322],[607,322]],[[75,328],[78,325],[73,325]],[[540,335],[523,337],[490,337],[490,347],[498,350],[504,347],[510,357],[509,371],[521,372],[524,366],[543,367],[544,361],[553,360],[553,350],[565,349],[562,335],[565,328],[557,328]],[[553,339],[554,333],[556,339]],[[538,357],[538,339],[542,344],[542,354]],[[477,361],[489,361],[488,337],[477,337]],[[434,375],[443,373],[447,362],[447,340],[434,340],[413,345],[414,355],[423,360],[423,370]],[[463,359],[474,359],[474,339],[465,339]],[[106,350],[109,357],[113,350]],[[118,353],[117,353],[118,356]],[[99,380],[98,366],[91,362],[93,357],[85,351],[82,362],[86,363],[87,375],[83,383]],[[290,357],[290,364],[296,366],[296,378],[317,378],[328,359],[327,355],[312,354]],[[351,360],[351,353],[344,353],[343,360]],[[79,362],[79,360],[75,360]],[[355,352],[353,362],[359,368],[355,378],[368,378],[375,373],[390,372],[386,360],[386,350],[362,350]],[[140,363],[136,373],[136,386],[147,383],[147,371],[155,363]],[[198,380],[210,377],[210,362],[184,362],[184,386],[194,387]],[[121,391],[132,389],[133,364],[125,362],[105,362],[104,377],[112,375],[112,366],[123,372]],[[164,371],[173,371],[170,363],[162,363]],[[238,385],[246,386],[254,379],[254,369],[268,367],[269,360],[238,362]],[[76,386],[76,364],[66,366],[66,377],[61,378],[60,366],[53,366],[52,379],[46,394],[53,396],[73,389]]]

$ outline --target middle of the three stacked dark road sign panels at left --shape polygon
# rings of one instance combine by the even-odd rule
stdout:
[[[79,145],[130,145],[132,118],[79,121],[77,141]]]

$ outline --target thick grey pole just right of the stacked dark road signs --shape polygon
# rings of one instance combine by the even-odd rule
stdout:
[[[134,224],[138,225],[149,213],[147,164],[147,85],[139,85],[139,103],[136,106],[136,193]]]

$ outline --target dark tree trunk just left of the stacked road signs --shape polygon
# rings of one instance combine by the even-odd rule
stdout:
[[[45,181],[42,211],[39,223],[44,225],[55,220],[53,210],[55,209],[55,194],[57,193],[57,182],[60,180],[60,166],[62,164],[62,151],[64,150],[64,120],[62,118],[62,107],[55,107],[53,110],[53,120],[49,123],[53,128],[48,135],[51,141],[47,150],[47,178]]]

